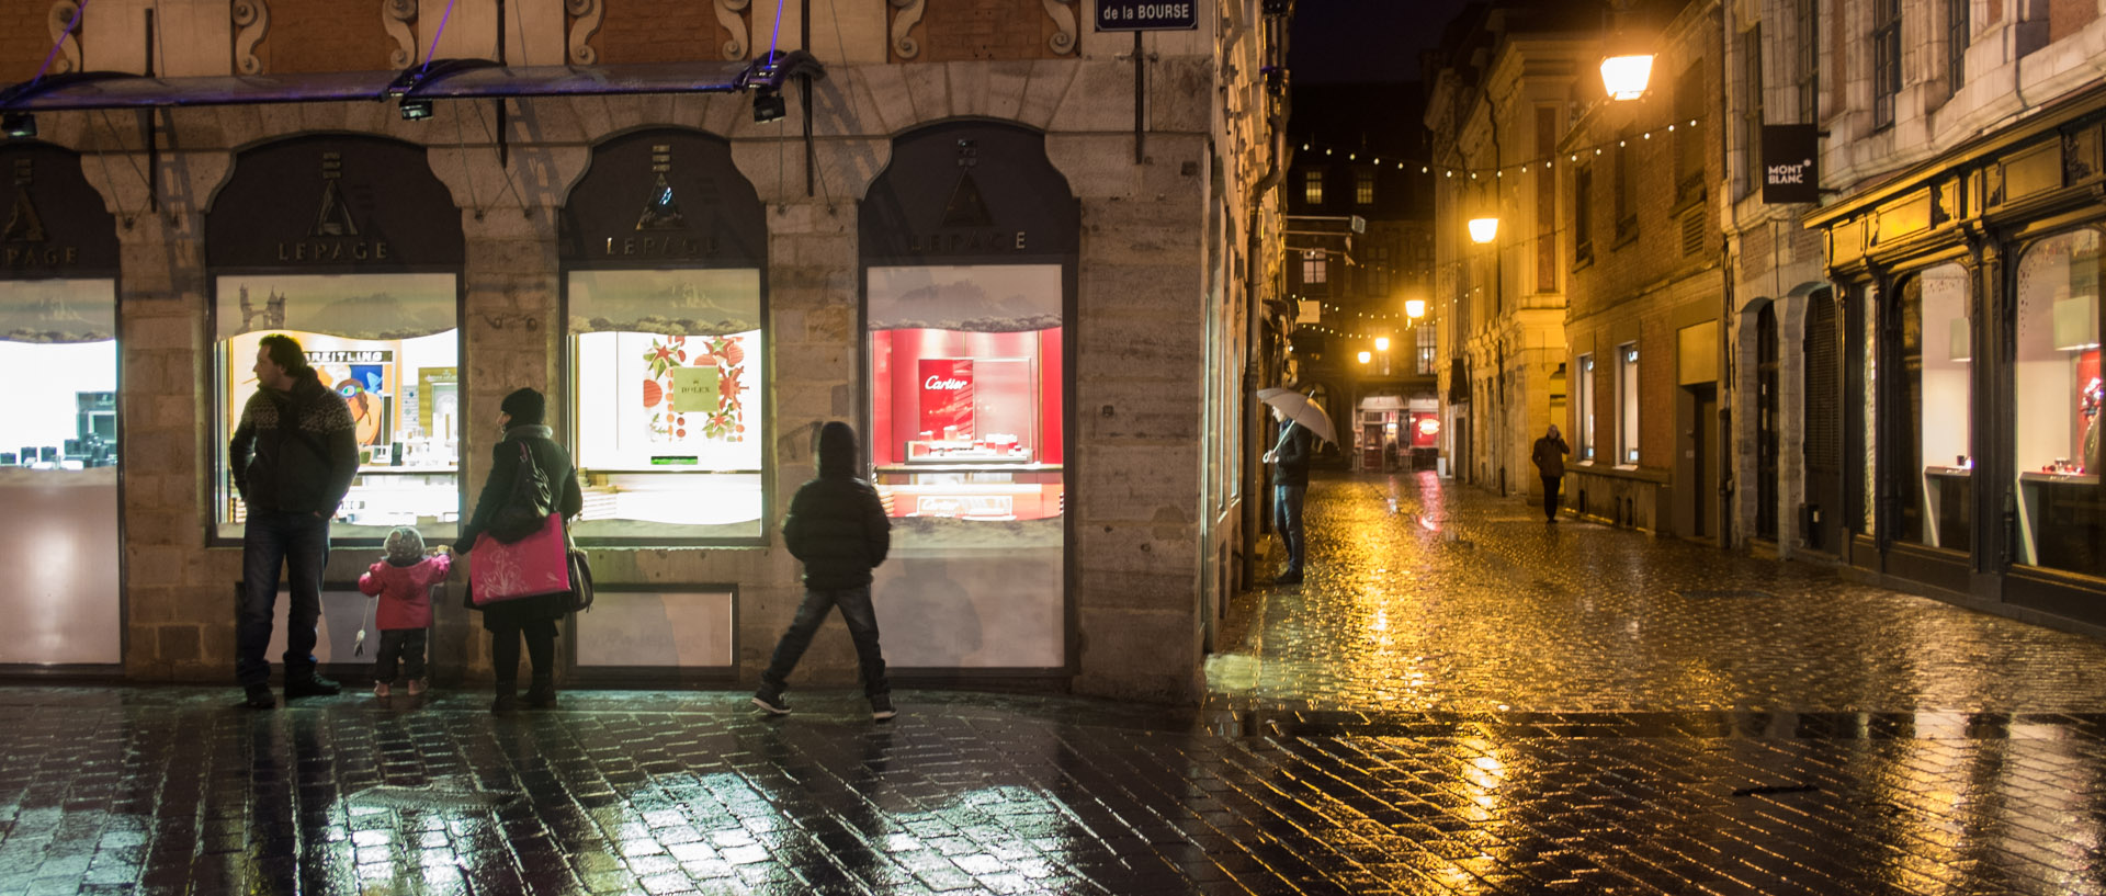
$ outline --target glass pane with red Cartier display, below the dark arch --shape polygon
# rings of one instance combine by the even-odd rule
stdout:
[[[895,665],[1061,665],[1061,276],[868,269],[870,459],[895,557],[876,589]]]

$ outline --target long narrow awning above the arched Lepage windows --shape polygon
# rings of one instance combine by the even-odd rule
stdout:
[[[0,90],[0,109],[141,109],[183,105],[326,103],[358,99],[590,97],[632,93],[735,93],[779,88],[792,74],[823,74],[807,53],[727,63],[497,65],[440,59],[402,72],[147,78],[80,72]]]

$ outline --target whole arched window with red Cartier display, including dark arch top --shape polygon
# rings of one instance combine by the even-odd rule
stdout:
[[[893,143],[861,210],[885,654],[908,669],[1066,665],[1068,349],[1078,208],[1038,133]]]

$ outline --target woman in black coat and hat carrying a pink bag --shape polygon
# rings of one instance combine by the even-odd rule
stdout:
[[[461,530],[455,553],[470,553],[476,538],[489,528],[491,517],[505,498],[512,496],[512,480],[520,469],[518,444],[526,444],[535,467],[556,486],[556,513],[569,526],[577,511],[585,507],[585,496],[577,488],[577,469],[571,454],[556,444],[554,433],[541,425],[548,400],[539,391],[520,389],[499,404],[497,427],[503,437],[491,450],[491,477],[476,498],[476,513]],[[482,606],[482,627],[491,633],[491,671],[497,675],[497,702],[493,713],[518,709],[520,637],[526,639],[526,656],[533,663],[533,686],[526,688],[526,705],[541,709],[556,705],[556,620],[571,612],[569,593],[516,597]]]

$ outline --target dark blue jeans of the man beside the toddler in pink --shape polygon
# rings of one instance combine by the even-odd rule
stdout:
[[[242,593],[234,608],[234,677],[270,684],[270,627],[278,604],[278,568],[286,570],[284,679],[314,675],[314,631],[322,620],[322,566],[329,564],[329,517],[251,507],[242,526]]]

